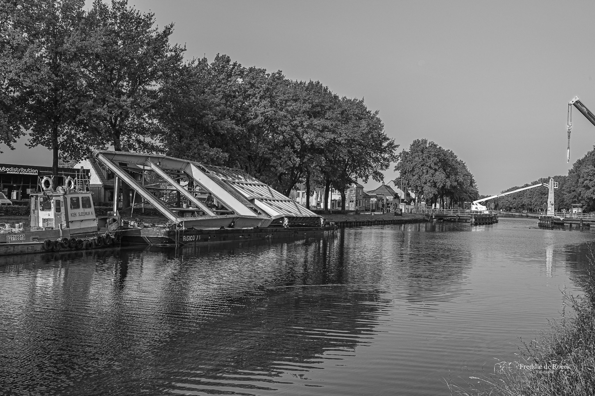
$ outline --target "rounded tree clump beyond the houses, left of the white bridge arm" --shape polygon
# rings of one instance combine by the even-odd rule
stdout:
[[[454,205],[464,208],[465,202],[479,197],[477,184],[465,162],[452,150],[427,139],[414,140],[409,150],[401,151],[394,170],[416,198],[424,197],[427,205],[440,203],[443,208]]]

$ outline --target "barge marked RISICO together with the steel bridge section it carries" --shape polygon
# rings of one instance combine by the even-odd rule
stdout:
[[[158,154],[96,150],[93,156],[116,176],[116,196],[120,179],[166,219],[162,224],[146,224],[141,218],[123,221],[120,232],[124,243],[196,245],[314,236],[336,230],[325,224],[324,217],[240,169]],[[146,186],[140,182],[148,172],[159,183]],[[170,207],[155,191],[177,194],[177,204],[183,201],[183,207]],[[116,205],[113,213],[118,214]]]

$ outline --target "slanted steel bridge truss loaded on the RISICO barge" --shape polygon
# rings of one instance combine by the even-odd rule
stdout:
[[[199,226],[205,221],[208,224],[213,224],[212,221],[215,219],[220,219],[222,224],[230,220],[232,227],[267,227],[272,221],[280,221],[284,226],[289,226],[290,223],[324,224],[324,219],[321,216],[297,204],[293,199],[253,178],[243,170],[208,166],[195,161],[156,154],[95,150],[93,156],[145,198],[171,223],[181,224],[184,227]],[[127,172],[129,164],[134,164],[143,171],[155,172],[184,198],[187,198],[190,205],[198,208],[206,216],[180,217],[176,211],[151,194],[149,191],[151,187],[141,185],[130,176],[130,173]],[[177,180],[170,176],[173,172],[179,174]],[[190,189],[189,186],[182,186],[179,183],[181,176],[192,180],[199,190],[208,192],[232,214],[217,215],[195,196],[196,188]]]

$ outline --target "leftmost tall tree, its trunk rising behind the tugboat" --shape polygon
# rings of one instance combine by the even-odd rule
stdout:
[[[54,175],[58,174],[61,148],[68,143],[71,132],[80,128],[79,27],[84,18],[83,5],[83,0],[18,0],[10,6],[4,4],[12,6],[7,14],[7,34],[14,39],[3,44],[3,53],[9,52],[2,62],[3,75],[8,77],[2,94],[4,119],[8,119],[4,121],[8,125],[8,129],[3,128],[4,140],[14,141],[19,127],[30,127],[27,145],[41,144],[52,150]],[[5,61],[11,58],[17,61],[7,68]],[[20,79],[18,83],[16,78]],[[7,97],[14,101],[10,103]],[[15,112],[20,113],[18,119],[7,117]]]

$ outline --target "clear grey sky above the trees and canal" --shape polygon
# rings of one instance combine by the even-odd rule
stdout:
[[[171,41],[187,59],[227,54],[364,98],[399,151],[419,138],[453,150],[480,194],[566,175],[595,144],[595,126],[575,110],[566,163],[569,100],[595,111],[595,2],[129,3],[160,27],[174,22]],[[51,164],[23,141],[0,150],[3,163]]]

